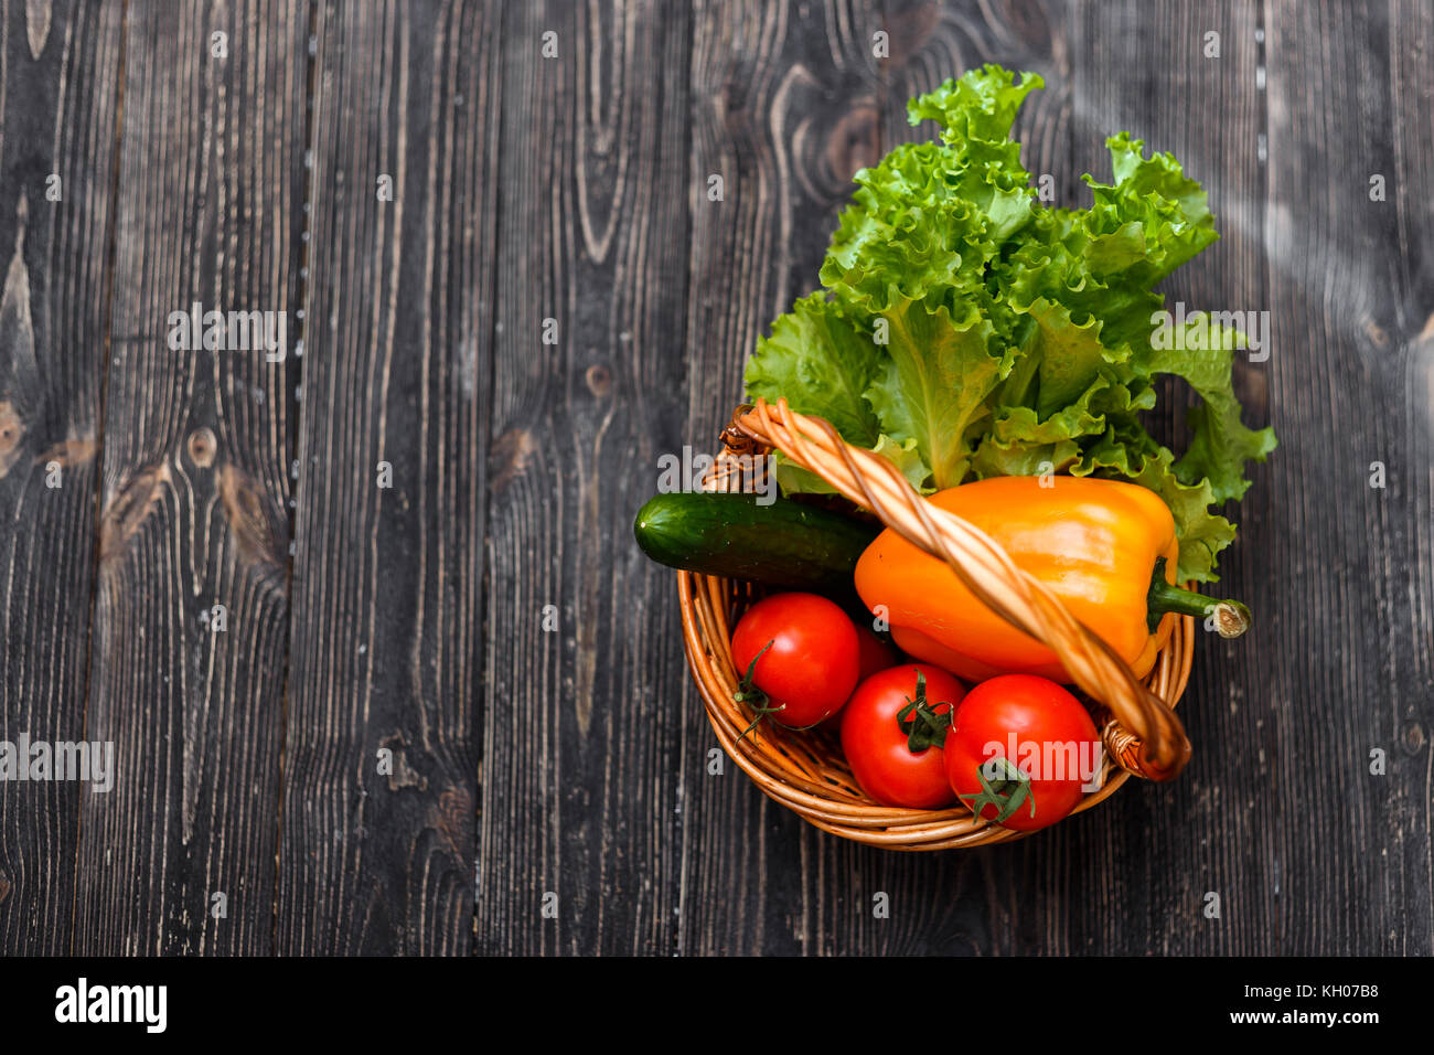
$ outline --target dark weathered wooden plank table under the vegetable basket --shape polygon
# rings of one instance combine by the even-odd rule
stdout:
[[[1434,952],[1428,0],[0,13],[0,732],[116,752],[0,784],[4,953]],[[1281,448],[1182,779],[902,855],[707,775],[631,521],[979,62],[1058,201],[1119,129],[1205,182],[1166,291],[1271,311]]]

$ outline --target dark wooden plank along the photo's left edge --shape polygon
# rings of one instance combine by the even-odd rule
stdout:
[[[0,3],[0,739],[83,741],[120,9]],[[52,182],[57,177],[57,182]],[[57,197],[56,197],[57,195]],[[27,761],[27,759],[26,759]],[[0,950],[69,952],[76,781],[0,784]]]

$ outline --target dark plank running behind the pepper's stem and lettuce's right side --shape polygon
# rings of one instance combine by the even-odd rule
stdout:
[[[1129,131],[1146,151],[1170,151],[1210,198],[1220,241],[1163,284],[1167,304],[1190,310],[1266,310],[1259,9],[1250,3],[1179,6],[1100,4],[1073,20],[1073,174],[1110,179],[1106,139]],[[1209,37],[1207,34],[1217,34]],[[1133,49],[1131,42],[1140,42]],[[1219,47],[1219,55],[1207,55]],[[1090,202],[1078,187],[1074,201]],[[1298,340],[1298,337],[1295,337]],[[1289,356],[1266,363],[1238,355],[1236,389],[1245,419],[1269,423],[1268,379]],[[1164,379],[1152,432],[1184,449],[1187,392]],[[1285,432],[1276,423],[1281,439]],[[1269,712],[1263,667],[1282,647],[1281,593],[1262,566],[1278,535],[1278,484],[1292,472],[1285,451],[1250,468],[1255,481],[1230,518],[1239,540],[1220,557],[1223,596],[1246,600],[1258,626],[1239,642],[1200,634],[1195,672],[1180,703],[1195,758],[1169,787],[1134,782],[1070,827],[1053,833],[1078,863],[1067,878],[1070,903],[1048,929],[1057,950],[1126,955],[1248,955],[1272,952],[1281,876],[1272,847],[1271,800],[1259,777]],[[1206,919],[1206,894],[1222,899]],[[1090,906],[1074,911],[1074,906]]]

